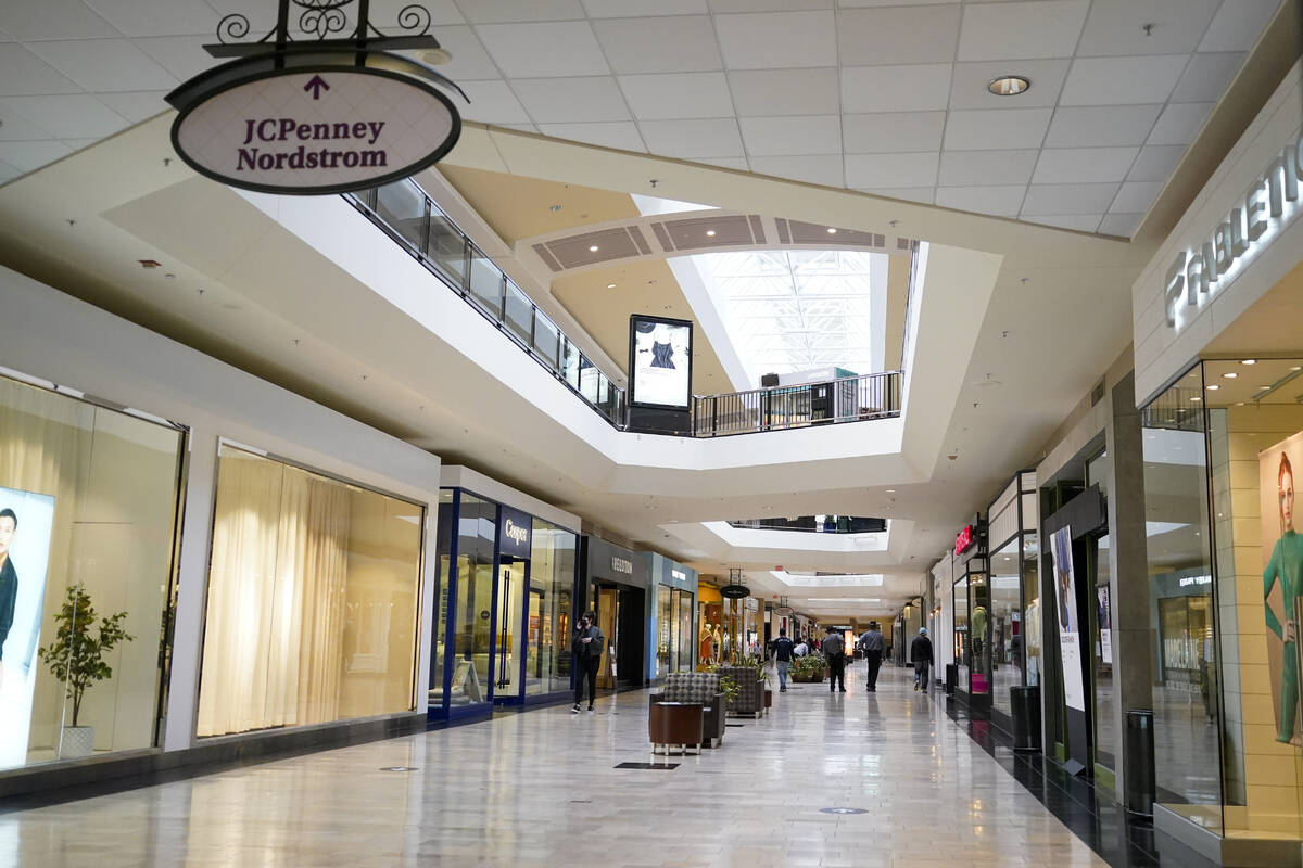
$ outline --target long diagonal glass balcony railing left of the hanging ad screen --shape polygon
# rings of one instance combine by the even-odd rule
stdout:
[[[624,389],[611,381],[416,181],[344,197],[521,350],[618,428]]]

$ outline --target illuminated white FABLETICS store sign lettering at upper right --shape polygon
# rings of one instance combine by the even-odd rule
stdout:
[[[1169,327],[1179,332],[1190,308],[1203,307],[1293,223],[1299,181],[1303,181],[1303,137],[1295,134],[1207,241],[1177,254],[1164,278]]]

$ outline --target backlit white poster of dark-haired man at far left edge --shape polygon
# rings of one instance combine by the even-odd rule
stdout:
[[[27,763],[55,498],[0,488],[0,768]]]

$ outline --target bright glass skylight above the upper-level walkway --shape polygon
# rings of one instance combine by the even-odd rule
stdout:
[[[873,372],[874,255],[853,250],[704,254],[701,272],[753,381],[821,367]]]

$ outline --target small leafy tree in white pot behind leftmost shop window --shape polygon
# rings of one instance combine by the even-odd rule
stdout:
[[[95,606],[83,584],[69,586],[64,605],[55,616],[55,640],[39,649],[40,660],[55,678],[64,682],[64,696],[73,700],[73,721],[65,725],[59,742],[60,759],[90,756],[95,750],[95,727],[79,726],[81,703],[86,688],[113,677],[106,657],[120,643],[134,636],[122,629],[125,612],[95,623]]]

